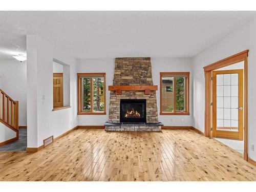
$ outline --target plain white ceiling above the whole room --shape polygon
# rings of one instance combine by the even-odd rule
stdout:
[[[38,34],[76,58],[193,57],[255,16],[255,11],[0,11],[0,58],[26,51],[26,34]]]

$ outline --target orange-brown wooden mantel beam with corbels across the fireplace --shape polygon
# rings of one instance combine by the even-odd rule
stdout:
[[[150,95],[150,91],[156,91],[157,86],[109,86],[109,91],[115,91],[117,95],[121,91],[144,91],[145,95]]]

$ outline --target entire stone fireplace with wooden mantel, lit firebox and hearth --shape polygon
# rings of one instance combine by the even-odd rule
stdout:
[[[150,57],[115,59],[105,131],[161,131]]]

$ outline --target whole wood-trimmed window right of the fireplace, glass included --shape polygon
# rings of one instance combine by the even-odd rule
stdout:
[[[189,115],[189,72],[160,73],[160,115]]]

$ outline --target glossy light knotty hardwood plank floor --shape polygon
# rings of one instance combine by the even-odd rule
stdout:
[[[0,152],[0,181],[256,181],[256,167],[193,130],[77,129],[34,154]]]

